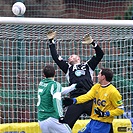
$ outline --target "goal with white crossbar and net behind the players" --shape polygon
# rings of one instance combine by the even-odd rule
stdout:
[[[57,31],[58,53],[66,60],[69,55],[78,54],[82,62],[95,54],[90,45],[81,43],[82,37],[89,33],[105,53],[95,71],[94,82],[97,82],[96,75],[101,67],[111,68],[114,71],[113,84],[123,96],[125,111],[133,110],[131,21],[36,20],[0,18],[0,123],[37,121],[37,87],[43,78],[43,66],[53,64],[55,80],[63,86],[68,85],[50,54],[46,38],[50,29]]]

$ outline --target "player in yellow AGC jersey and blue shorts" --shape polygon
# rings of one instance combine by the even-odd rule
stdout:
[[[88,93],[64,100],[64,105],[69,106],[94,99],[91,121],[78,133],[109,133],[114,117],[123,114],[122,96],[111,84],[112,78],[113,72],[108,68],[102,68],[98,74],[99,83],[95,84]]]

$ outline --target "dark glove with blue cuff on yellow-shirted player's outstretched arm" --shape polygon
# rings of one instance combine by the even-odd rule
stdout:
[[[63,107],[70,106],[72,104],[76,104],[77,100],[76,98],[67,98],[65,97],[63,99]]]

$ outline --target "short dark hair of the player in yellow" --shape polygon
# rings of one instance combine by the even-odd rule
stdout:
[[[101,75],[105,75],[105,78],[108,82],[111,82],[112,81],[112,78],[113,78],[113,72],[111,69],[109,68],[102,68],[101,69]]]

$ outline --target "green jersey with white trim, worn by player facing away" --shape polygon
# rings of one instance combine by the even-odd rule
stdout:
[[[39,83],[37,103],[39,121],[63,116],[61,91],[61,84],[50,78],[45,78]]]

